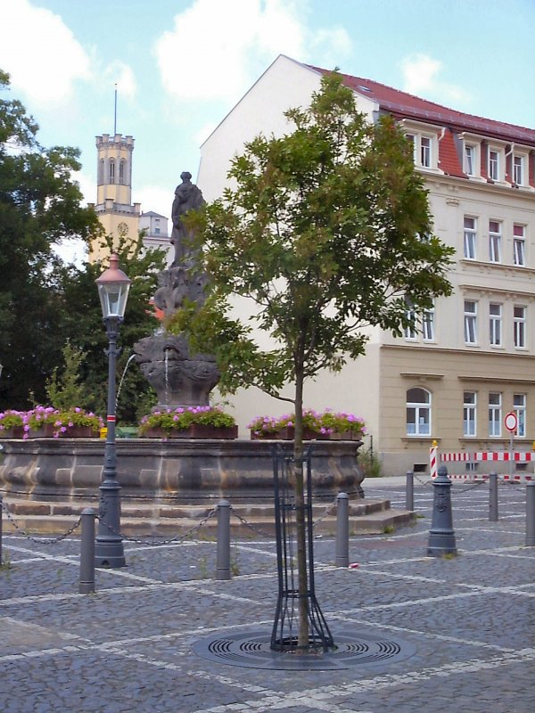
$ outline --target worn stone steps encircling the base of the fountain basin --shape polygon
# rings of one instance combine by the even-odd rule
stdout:
[[[31,503],[29,501],[4,500],[10,513],[4,514],[4,532],[12,532],[17,528],[29,534],[59,535],[70,529],[78,520],[79,512],[84,507],[95,504],[69,503]],[[391,532],[398,527],[409,525],[415,519],[415,513],[405,510],[391,510],[385,506],[388,501],[356,501],[350,514],[351,535],[378,535]],[[31,505],[38,505],[32,509]],[[46,507],[43,507],[43,506]],[[48,508],[48,509],[46,509]],[[120,531],[127,537],[180,537],[192,533],[192,537],[216,537],[217,516],[200,524],[212,507],[186,505],[176,506],[153,505],[143,508],[127,505],[121,507]],[[157,512],[152,512],[156,510]],[[314,531],[317,534],[334,535],[336,532],[336,508],[325,506],[315,508]],[[165,513],[165,514],[164,514]],[[273,537],[275,535],[275,519],[273,506],[266,504],[264,509],[259,504],[233,505],[231,512],[231,528],[236,537]],[[14,523],[14,525],[13,525]],[[16,527],[15,527],[16,526]],[[79,534],[79,529],[76,531]]]

